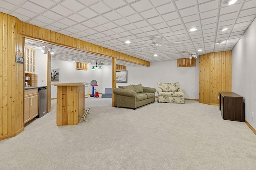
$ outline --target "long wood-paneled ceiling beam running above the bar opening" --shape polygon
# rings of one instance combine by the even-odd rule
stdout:
[[[150,66],[150,62],[120,53],[105,47],[101,47],[80,39],[69,37],[30,23],[25,23],[20,21],[20,34],[26,38],[50,43],[53,45],[59,45],[61,47],[67,47],[70,49],[75,49],[78,51],[83,51],[86,53],[92,53],[96,55],[101,55],[104,57],[112,57],[118,60],[126,61],[129,63],[140,64],[143,66]]]

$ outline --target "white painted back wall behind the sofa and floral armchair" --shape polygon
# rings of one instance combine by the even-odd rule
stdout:
[[[112,66],[104,66],[103,90],[112,88]],[[186,90],[185,98],[199,99],[199,59],[194,67],[177,67],[177,60],[150,63],[150,67],[126,66],[127,83],[117,83],[118,86],[142,84],[142,86],[158,88],[158,82],[180,82],[180,87]],[[156,93],[156,96],[158,94]]]

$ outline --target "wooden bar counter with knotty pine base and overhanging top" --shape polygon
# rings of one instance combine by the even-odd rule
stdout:
[[[84,114],[84,86],[87,84],[90,83],[53,84],[57,86],[57,126],[79,123]]]

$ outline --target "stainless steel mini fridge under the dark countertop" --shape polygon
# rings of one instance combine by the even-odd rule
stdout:
[[[39,115],[42,117],[47,113],[47,87],[38,88],[39,92]]]

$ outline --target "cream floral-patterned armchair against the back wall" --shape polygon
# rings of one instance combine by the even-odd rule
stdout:
[[[180,88],[180,82],[160,83],[158,82],[158,102],[159,103],[185,103],[185,90]]]

